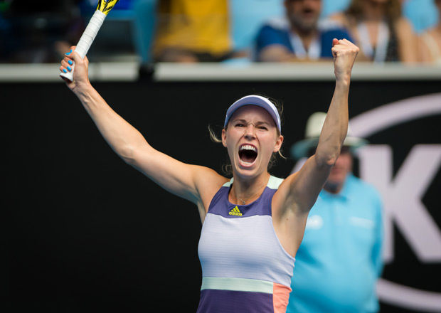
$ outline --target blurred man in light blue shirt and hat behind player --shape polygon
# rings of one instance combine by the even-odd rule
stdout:
[[[326,113],[307,122],[296,158],[314,154]],[[309,212],[296,255],[287,313],[378,312],[376,281],[383,262],[383,205],[378,191],[351,174],[353,152],[366,144],[347,136],[324,189]]]

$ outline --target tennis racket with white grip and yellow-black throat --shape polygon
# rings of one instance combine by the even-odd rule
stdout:
[[[118,1],[119,0],[98,0],[97,9],[92,15],[92,18],[90,18],[80,41],[78,41],[77,48],[75,48],[75,52],[78,53],[81,58],[84,58],[87,51],[89,51],[90,45],[92,45],[92,42],[95,40],[95,37],[102,26],[102,22],[104,22],[107,14],[113,9]],[[67,78],[72,82],[75,63],[70,67],[72,68],[70,72],[60,73],[60,76]]]

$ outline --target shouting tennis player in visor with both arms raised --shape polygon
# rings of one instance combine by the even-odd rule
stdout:
[[[265,97],[245,96],[226,113],[221,142],[233,178],[184,164],[149,145],[92,87],[87,58],[73,52],[60,70],[76,68],[66,85],[80,99],[110,147],[127,164],[196,204],[203,223],[198,253],[203,279],[198,312],[285,312],[294,257],[309,209],[339,157],[348,128],[351,70],[358,48],[333,40],[336,86],[317,152],[302,169],[278,179],[268,172],[283,142],[280,115]]]

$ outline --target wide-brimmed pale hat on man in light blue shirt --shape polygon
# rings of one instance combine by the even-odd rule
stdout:
[[[292,157],[295,159],[309,157],[310,150],[317,147],[317,144],[319,144],[319,136],[320,132],[322,132],[325,118],[326,113],[324,112],[315,112],[309,117],[305,130],[305,139],[296,142],[290,149]],[[366,139],[351,136],[348,127],[348,134],[344,139],[343,145],[349,147],[351,153],[354,153],[356,149],[363,147],[365,144],[368,144],[368,141]]]

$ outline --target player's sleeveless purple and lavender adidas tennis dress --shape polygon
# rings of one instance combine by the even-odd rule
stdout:
[[[285,312],[294,258],[272,226],[271,201],[282,179],[270,177],[260,198],[228,201],[233,179],[213,197],[201,230],[202,267],[197,312]]]

